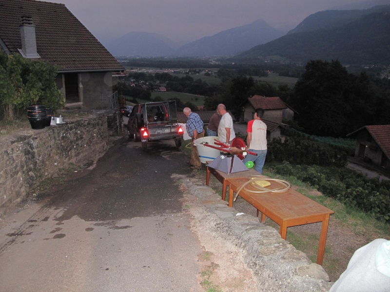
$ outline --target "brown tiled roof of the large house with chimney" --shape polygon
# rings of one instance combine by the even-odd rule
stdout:
[[[0,41],[19,52],[22,16],[31,16],[42,60],[64,71],[118,71],[123,66],[64,4],[35,0],[0,0]]]

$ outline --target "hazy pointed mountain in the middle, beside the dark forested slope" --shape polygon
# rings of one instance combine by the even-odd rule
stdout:
[[[246,51],[253,46],[267,43],[285,34],[257,20],[251,24],[234,27],[211,37],[202,37],[176,50],[179,56],[228,56]]]

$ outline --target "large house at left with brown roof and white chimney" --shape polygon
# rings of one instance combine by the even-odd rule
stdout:
[[[58,67],[66,105],[107,108],[122,65],[64,4],[0,0],[0,48]]]

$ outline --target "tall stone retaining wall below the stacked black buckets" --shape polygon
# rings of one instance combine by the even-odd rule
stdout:
[[[60,168],[96,158],[108,146],[104,114],[0,139],[0,220]]]

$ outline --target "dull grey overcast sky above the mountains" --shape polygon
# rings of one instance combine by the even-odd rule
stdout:
[[[189,42],[263,19],[293,28],[309,15],[362,0],[46,0],[63,3],[103,44],[128,32]],[[363,0],[364,1],[364,0]]]

